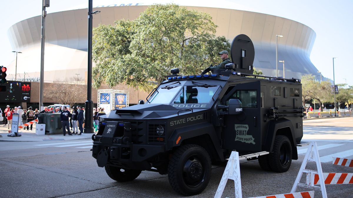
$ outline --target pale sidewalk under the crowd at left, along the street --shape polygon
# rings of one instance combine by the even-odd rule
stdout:
[[[67,141],[67,140],[91,140],[93,134],[81,135],[67,135],[63,136],[62,134],[53,134],[53,135],[36,135],[36,124],[33,124],[32,131],[29,130],[18,130],[22,136],[20,137],[8,137],[7,125],[0,124],[0,141],[14,141],[14,142],[38,142],[38,141]],[[71,131],[72,132],[72,131]]]

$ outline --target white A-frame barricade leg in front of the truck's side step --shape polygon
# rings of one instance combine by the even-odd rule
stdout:
[[[229,157],[226,169],[223,172],[221,182],[217,188],[215,198],[221,198],[228,179],[234,180],[235,198],[242,198],[243,195],[241,194],[239,153],[236,151],[232,151],[232,154]]]

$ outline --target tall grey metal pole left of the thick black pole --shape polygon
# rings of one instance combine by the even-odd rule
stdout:
[[[39,83],[39,109],[43,105],[43,87],[44,87],[44,44],[45,44],[45,17],[47,16],[46,7],[49,7],[49,0],[43,0],[42,5],[42,32],[41,32],[41,79]]]

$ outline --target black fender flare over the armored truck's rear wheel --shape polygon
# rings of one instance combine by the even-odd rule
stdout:
[[[268,130],[267,130],[265,148],[263,150],[272,152],[273,143],[275,142],[275,136],[276,136],[277,130],[281,128],[286,128],[286,127],[289,127],[291,129],[291,136],[288,138],[292,143],[292,158],[293,160],[297,160],[298,151],[297,151],[297,144],[294,142],[295,141],[294,127],[291,120],[288,120],[287,118],[280,118],[277,121],[276,120],[270,121]]]

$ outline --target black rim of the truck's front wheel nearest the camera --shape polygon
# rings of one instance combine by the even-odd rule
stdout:
[[[183,179],[187,186],[197,187],[205,176],[205,169],[201,156],[191,155],[184,162]]]

